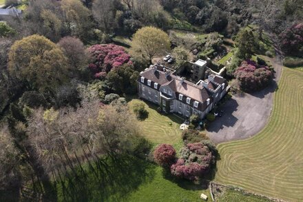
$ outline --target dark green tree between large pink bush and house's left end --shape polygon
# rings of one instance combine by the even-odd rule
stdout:
[[[107,80],[112,83],[118,94],[134,94],[137,90],[137,79],[139,72],[134,70],[133,65],[122,65],[107,74]]]

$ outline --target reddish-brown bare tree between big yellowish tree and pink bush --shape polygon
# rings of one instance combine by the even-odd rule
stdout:
[[[63,37],[58,45],[74,70],[81,70],[86,64],[86,52],[82,41],[76,37]]]

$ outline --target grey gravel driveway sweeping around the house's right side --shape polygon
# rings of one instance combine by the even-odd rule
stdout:
[[[234,95],[220,108],[224,113],[209,125],[207,135],[216,144],[247,139],[264,128],[269,121],[273,106],[273,92],[282,74],[279,56],[271,59],[275,79],[266,89],[252,94]]]

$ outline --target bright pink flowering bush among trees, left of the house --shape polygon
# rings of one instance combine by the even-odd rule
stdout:
[[[88,68],[96,78],[104,78],[112,69],[130,61],[130,55],[127,54],[122,46],[114,44],[96,44],[87,49],[90,53],[90,65]]]

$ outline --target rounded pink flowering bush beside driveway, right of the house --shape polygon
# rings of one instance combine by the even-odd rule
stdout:
[[[240,88],[245,92],[253,92],[265,88],[273,79],[273,72],[266,65],[258,65],[254,61],[242,61],[235,72]]]

